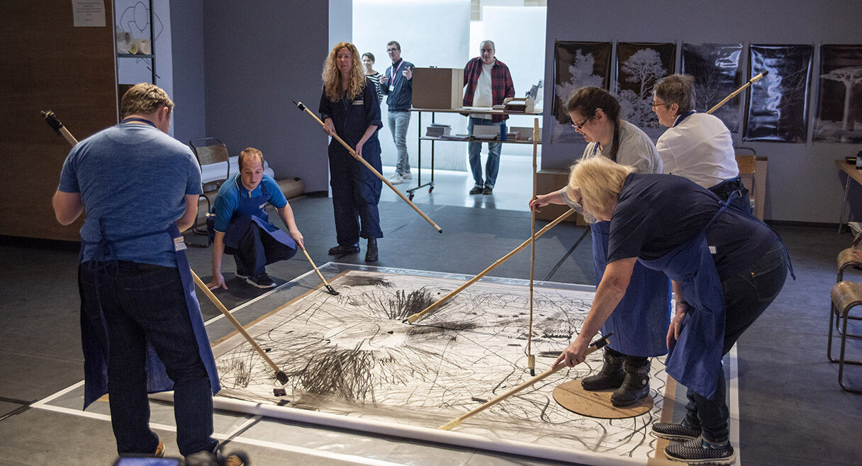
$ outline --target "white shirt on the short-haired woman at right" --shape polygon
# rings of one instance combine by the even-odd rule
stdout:
[[[689,115],[667,128],[655,146],[665,173],[686,177],[704,188],[740,175],[730,131],[713,115]]]

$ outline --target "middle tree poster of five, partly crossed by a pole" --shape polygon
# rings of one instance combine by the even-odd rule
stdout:
[[[695,79],[695,109],[706,112],[742,85],[742,44],[683,44],[683,74]],[[740,127],[740,97],[716,109],[713,115],[731,133]]]

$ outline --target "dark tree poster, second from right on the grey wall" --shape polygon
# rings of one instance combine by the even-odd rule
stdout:
[[[814,46],[752,45],[748,54],[748,78],[769,75],[751,87],[742,139],[805,142]]]

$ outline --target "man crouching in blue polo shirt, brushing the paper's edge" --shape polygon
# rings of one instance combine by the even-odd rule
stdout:
[[[278,211],[290,236],[269,222],[266,204]],[[248,147],[240,152],[240,172],[228,178],[213,202],[215,238],[213,239],[213,278],[209,289],[228,289],[222,276],[222,255],[234,255],[236,276],[258,288],[272,288],[275,282],[266,275],[265,266],[292,258],[297,245],[303,249],[293,210],[278,183],[264,174],[264,154]]]

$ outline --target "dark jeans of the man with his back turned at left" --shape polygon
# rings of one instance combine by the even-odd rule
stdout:
[[[101,304],[108,336],[108,393],[117,451],[152,454],[159,438],[150,430],[147,343],[173,381],[179,452],[214,451],[213,400],[198,353],[176,267],[128,261],[78,268],[81,310],[98,319]],[[98,283],[98,290],[96,289]]]

